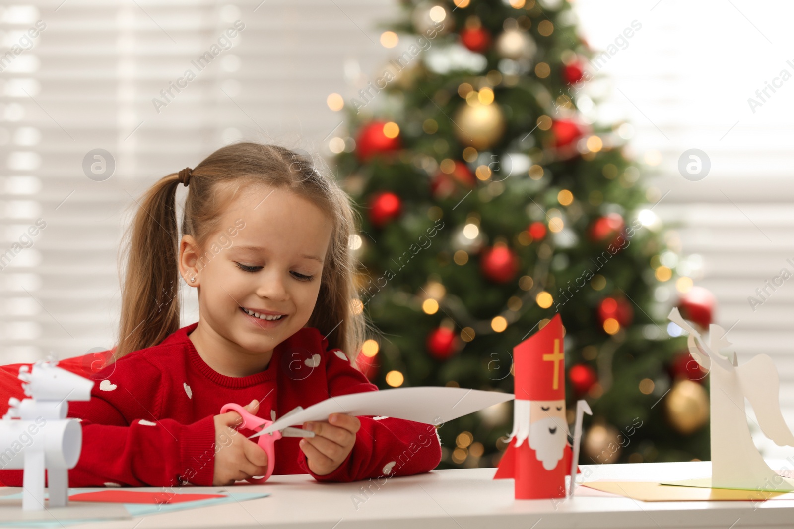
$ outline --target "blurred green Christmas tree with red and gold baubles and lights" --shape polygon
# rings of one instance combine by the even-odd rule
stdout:
[[[380,331],[360,369],[381,388],[511,393],[513,347],[559,312],[569,422],[576,399],[593,410],[580,462],[707,459],[705,374],[658,301],[702,291],[630,125],[594,118],[595,52],[569,3],[402,4],[380,37],[391,61],[329,98],[348,114],[329,148],[362,217],[353,309]],[[712,304],[681,308],[707,325]],[[511,426],[510,404],[443,425],[441,468],[495,466]]]

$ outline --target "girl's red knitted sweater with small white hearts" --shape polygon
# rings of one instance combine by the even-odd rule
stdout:
[[[83,450],[69,470],[71,487],[212,485],[213,416],[223,404],[256,399],[257,416],[271,420],[272,410],[280,417],[330,396],[378,389],[341,350],[329,350],[328,340],[313,327],[279,343],[266,370],[227,377],[208,366],[188,338],[197,325],[120,358],[95,375],[91,401],[69,403],[69,416],[83,425]],[[276,441],[273,473],[357,481],[427,472],[441,461],[441,439],[433,425],[389,417],[359,420],[353,450],[337,470],[312,473],[300,438],[285,437]],[[0,481],[20,487],[22,470],[0,470]]]

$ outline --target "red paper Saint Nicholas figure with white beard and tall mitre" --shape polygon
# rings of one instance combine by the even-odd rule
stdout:
[[[565,497],[572,455],[559,314],[513,348],[513,369],[513,431],[494,479],[515,478],[516,500]]]

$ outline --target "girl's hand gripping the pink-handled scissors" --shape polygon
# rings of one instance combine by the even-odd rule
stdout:
[[[259,402],[255,400],[245,406],[256,414]],[[237,412],[225,412],[215,416],[215,467],[212,484],[234,485],[234,481],[252,476],[264,476],[268,471],[268,454],[251,439],[237,435],[236,426],[243,419]]]

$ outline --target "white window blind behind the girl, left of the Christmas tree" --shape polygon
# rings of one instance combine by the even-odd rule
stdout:
[[[238,139],[330,154],[343,117],[326,97],[381,69],[376,24],[395,10],[384,0],[0,6],[0,363],[114,345],[121,234],[157,178]],[[180,289],[185,325],[198,299]]]

